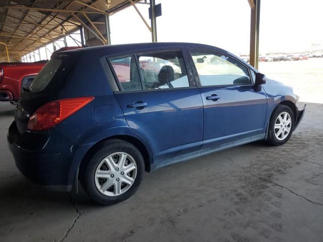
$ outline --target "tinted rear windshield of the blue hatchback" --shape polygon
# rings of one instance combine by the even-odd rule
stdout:
[[[35,77],[28,92],[41,92],[49,85],[56,90],[60,88],[74,66],[74,59],[69,55],[51,58]]]

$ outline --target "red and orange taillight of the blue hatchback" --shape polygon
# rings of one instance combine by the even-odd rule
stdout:
[[[39,107],[30,116],[27,130],[48,130],[84,107],[93,99],[94,97],[77,97],[48,102]]]

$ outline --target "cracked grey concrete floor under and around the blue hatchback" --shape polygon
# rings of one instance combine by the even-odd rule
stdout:
[[[111,207],[52,193],[20,175],[0,103],[0,241],[323,241],[323,104],[290,141],[261,142],[145,173]]]

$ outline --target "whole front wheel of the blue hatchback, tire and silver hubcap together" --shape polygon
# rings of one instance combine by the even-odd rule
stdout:
[[[293,133],[294,124],[292,109],[286,105],[277,105],[270,119],[266,142],[274,146],[285,144]]]

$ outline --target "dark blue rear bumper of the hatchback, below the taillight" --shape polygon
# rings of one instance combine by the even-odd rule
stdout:
[[[73,187],[70,172],[74,156],[71,147],[74,148],[75,144],[59,134],[50,134],[48,139],[43,140],[35,136],[32,141],[31,137],[26,139],[23,135],[13,122],[9,128],[8,145],[20,172],[35,184],[54,191],[70,192]],[[28,140],[29,143],[39,143],[37,146],[41,148],[31,147],[27,144]]]

